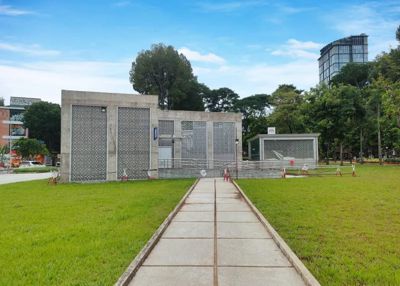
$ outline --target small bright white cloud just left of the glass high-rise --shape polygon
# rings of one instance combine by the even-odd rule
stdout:
[[[293,58],[309,58],[316,60],[319,55],[316,52],[306,51],[318,50],[323,45],[312,41],[299,41],[296,39],[288,39],[279,49],[271,51],[272,55],[283,55]]]

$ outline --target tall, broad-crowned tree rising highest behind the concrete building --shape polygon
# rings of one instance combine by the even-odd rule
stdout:
[[[193,78],[190,61],[172,45],[163,43],[141,50],[129,71],[133,89],[140,94],[158,94],[160,109],[172,109],[186,97],[186,85]]]

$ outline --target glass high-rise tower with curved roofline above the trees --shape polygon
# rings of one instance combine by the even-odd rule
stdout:
[[[364,33],[351,35],[328,43],[320,49],[318,58],[319,82],[329,80],[347,62],[368,61],[368,36]]]

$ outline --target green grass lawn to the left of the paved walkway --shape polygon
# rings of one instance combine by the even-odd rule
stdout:
[[[111,285],[194,179],[0,186],[1,285]]]

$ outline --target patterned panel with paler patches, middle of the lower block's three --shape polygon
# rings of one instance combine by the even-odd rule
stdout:
[[[207,159],[207,122],[181,121],[180,157]]]

